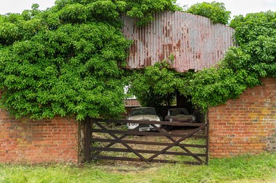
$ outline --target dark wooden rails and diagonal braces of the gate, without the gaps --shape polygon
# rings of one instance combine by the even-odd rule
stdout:
[[[139,127],[132,129],[130,131],[126,130],[113,130],[107,129],[105,125],[108,125],[110,122],[115,122],[119,124],[126,124],[127,122],[139,123],[139,127],[144,125],[152,125],[155,131],[138,131]],[[105,133],[109,134],[113,139],[107,138],[92,138],[86,140],[86,144],[91,144],[93,142],[108,142],[109,144],[104,145],[104,147],[89,147],[89,150],[86,150],[86,160],[92,159],[104,159],[104,160],[126,160],[126,161],[137,161],[137,162],[170,162],[174,163],[173,160],[157,160],[159,155],[182,155],[182,156],[191,156],[197,160],[197,162],[181,162],[184,164],[208,164],[208,122],[207,123],[188,123],[188,122],[157,122],[157,121],[136,121],[136,120],[103,120],[93,118],[91,124],[94,123],[97,125],[98,129],[88,129],[86,131],[86,136],[88,133]],[[190,131],[189,133],[171,133],[166,131],[166,129],[158,128],[156,125],[175,125],[179,127],[197,127]],[[199,135],[200,131],[206,131],[206,135]],[[161,136],[168,138],[171,142],[150,142],[150,141],[137,141],[137,140],[123,140],[128,136]],[[177,137],[178,139],[175,140]],[[182,143],[187,138],[203,138],[206,139],[205,144],[187,144]],[[112,147],[113,144],[122,144],[126,149]],[[150,149],[135,149],[129,144],[145,144],[145,145],[155,145],[161,147],[161,150],[150,150]],[[180,147],[183,151],[172,151],[172,147]],[[206,149],[206,153],[193,153],[187,147],[201,148]],[[88,148],[88,147],[86,147]],[[123,153],[134,153],[137,155],[137,158],[126,158],[126,157],[115,157],[112,155],[101,155],[102,152],[123,152]],[[144,154],[153,154],[150,158],[145,158]],[[199,157],[203,157],[206,160],[202,160]]]

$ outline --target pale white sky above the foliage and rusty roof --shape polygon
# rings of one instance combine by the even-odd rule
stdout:
[[[214,0],[204,1],[212,2]],[[177,0],[177,3],[179,3],[180,6],[191,6],[195,3],[202,3],[204,1]],[[232,12],[232,16],[268,10],[276,12],[276,0],[217,0],[217,2],[223,2],[226,6],[226,10]],[[6,14],[8,12],[21,13],[23,10],[30,10],[33,3],[38,3],[40,10],[46,10],[46,8],[55,5],[55,0],[0,0],[0,14]]]

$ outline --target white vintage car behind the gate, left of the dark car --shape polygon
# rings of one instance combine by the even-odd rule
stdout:
[[[135,107],[131,109],[130,115],[126,118],[127,120],[153,120],[160,121],[160,118],[157,116],[155,112],[155,108],[153,107]],[[128,129],[135,129],[139,126],[138,123],[127,123]],[[153,130],[154,127],[152,125],[140,125],[139,131],[150,131]],[[155,125],[156,127],[160,127],[160,125]]]

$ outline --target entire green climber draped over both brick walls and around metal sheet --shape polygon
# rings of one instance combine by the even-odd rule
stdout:
[[[170,0],[57,0],[46,11],[34,4],[21,14],[1,15],[1,107],[17,118],[116,118],[131,81],[130,92],[144,105],[168,103],[180,92],[206,111],[238,98],[261,77],[275,77],[275,12],[235,17],[230,26],[238,46],[216,67],[181,74],[163,61],[126,71],[131,42],[121,33],[121,14],[146,25],[152,12],[164,10],[179,8]]]

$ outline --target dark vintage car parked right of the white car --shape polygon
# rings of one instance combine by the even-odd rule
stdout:
[[[165,120],[170,122],[197,122],[197,118],[188,114],[186,108],[169,109]]]

